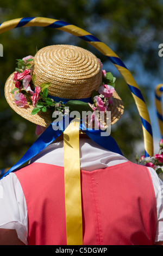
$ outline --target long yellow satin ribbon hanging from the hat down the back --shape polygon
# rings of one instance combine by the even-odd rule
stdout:
[[[64,172],[67,245],[83,245],[78,121],[64,131]]]

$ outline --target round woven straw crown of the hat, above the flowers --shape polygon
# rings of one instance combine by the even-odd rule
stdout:
[[[34,58],[35,84],[51,82],[48,93],[65,99],[91,97],[102,84],[97,57],[81,47],[52,45],[43,47]]]

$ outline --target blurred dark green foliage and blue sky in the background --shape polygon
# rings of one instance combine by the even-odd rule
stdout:
[[[1,1],[0,23],[21,17],[48,17],[85,29],[115,51],[136,79],[146,72],[139,87],[148,103],[148,95],[156,85],[155,77],[160,82],[162,79],[158,56],[158,45],[163,42],[162,13],[163,4],[159,0],[7,0]],[[101,53],[77,36],[44,27],[12,29],[1,34],[0,43],[4,47],[0,58],[0,169],[14,165],[36,139],[35,125],[8,106],[4,97],[5,81],[14,72],[17,58],[34,55],[36,49],[52,44],[87,48],[117,77],[116,90],[122,97],[125,112],[112,127],[111,135],[123,154],[134,159],[135,143],[143,141],[140,117],[126,82]]]

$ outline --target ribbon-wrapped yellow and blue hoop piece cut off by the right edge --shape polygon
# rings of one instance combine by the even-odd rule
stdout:
[[[161,103],[162,93],[163,93],[163,84],[160,83],[155,88],[155,106],[156,106],[156,114],[158,117],[161,138],[163,138],[163,114],[162,114],[162,103]]]

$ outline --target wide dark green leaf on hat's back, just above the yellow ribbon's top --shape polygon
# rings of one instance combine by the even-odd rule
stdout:
[[[80,113],[80,117],[82,117],[83,111],[91,111],[93,112],[93,109],[89,106],[88,103],[80,100],[69,100],[65,107],[69,107],[70,112],[72,111],[78,111]]]

